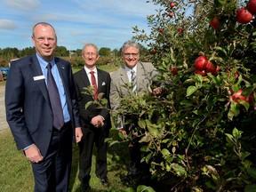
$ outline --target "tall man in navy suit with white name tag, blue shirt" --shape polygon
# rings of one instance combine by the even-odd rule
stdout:
[[[83,136],[72,70],[68,61],[53,56],[57,36],[52,25],[37,23],[32,32],[36,54],[11,64],[6,118],[17,148],[31,162],[35,191],[68,191],[74,133],[76,142]]]

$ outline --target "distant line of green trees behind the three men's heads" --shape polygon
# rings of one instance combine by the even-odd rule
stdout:
[[[140,53],[142,55],[147,55],[148,50],[140,45]],[[0,48],[0,68],[8,67],[10,60],[19,59],[36,52],[35,47],[26,47],[24,49],[17,49],[7,47],[4,49]],[[65,46],[58,46],[55,50],[55,55],[71,62],[73,67],[81,67],[84,66],[84,61],[81,57],[82,49],[76,50],[68,50]],[[108,47],[101,47],[99,50],[100,59],[98,60],[99,65],[119,65],[120,64],[120,56],[121,56],[121,48],[111,50]]]

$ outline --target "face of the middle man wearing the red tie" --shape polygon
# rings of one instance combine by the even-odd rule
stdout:
[[[84,64],[87,68],[93,69],[96,67],[96,61],[100,58],[98,55],[97,49],[91,45],[88,45],[84,48],[82,55],[84,59]]]

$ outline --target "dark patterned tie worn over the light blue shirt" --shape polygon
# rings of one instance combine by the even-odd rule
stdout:
[[[60,102],[60,93],[52,76],[51,63],[48,63],[47,69],[47,86],[52,105],[53,127],[60,130],[64,124],[63,110]]]

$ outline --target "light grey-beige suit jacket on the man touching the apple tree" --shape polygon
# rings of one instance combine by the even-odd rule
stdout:
[[[136,81],[137,81],[137,92],[149,92],[148,87],[153,84],[153,80],[159,76],[156,68],[150,62],[138,62],[137,63],[137,74],[136,74]],[[112,75],[111,75],[111,85],[110,85],[110,105],[112,110],[112,115],[114,119],[116,119],[116,128],[123,128],[124,127],[124,120],[122,116],[118,116],[117,109],[121,108],[120,106],[120,99],[129,97],[131,90],[131,83],[129,82],[127,72],[122,66],[118,68]]]

